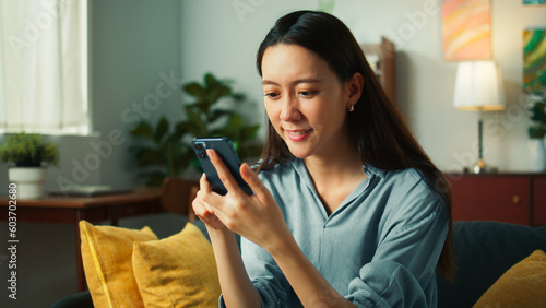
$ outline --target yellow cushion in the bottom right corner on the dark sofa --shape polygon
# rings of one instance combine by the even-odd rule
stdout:
[[[535,250],[508,270],[474,307],[544,307],[546,254]]]

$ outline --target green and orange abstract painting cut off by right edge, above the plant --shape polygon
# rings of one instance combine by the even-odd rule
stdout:
[[[546,28],[523,31],[523,87],[546,88]]]

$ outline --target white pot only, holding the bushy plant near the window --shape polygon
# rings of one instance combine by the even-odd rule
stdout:
[[[47,168],[13,167],[9,171],[10,182],[17,185],[17,199],[38,199],[44,197]]]

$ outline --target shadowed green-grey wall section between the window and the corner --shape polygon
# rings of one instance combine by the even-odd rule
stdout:
[[[140,121],[180,117],[180,1],[93,0],[93,125],[111,153],[102,159],[100,182],[130,186],[136,177],[135,140]],[[110,133],[123,142],[112,145]]]

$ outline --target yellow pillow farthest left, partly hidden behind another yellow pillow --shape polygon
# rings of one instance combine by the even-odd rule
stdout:
[[[156,240],[141,230],[80,222],[82,261],[95,307],[144,307],[132,270],[133,242]]]

